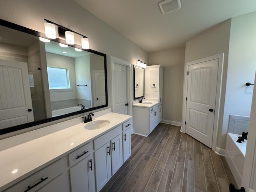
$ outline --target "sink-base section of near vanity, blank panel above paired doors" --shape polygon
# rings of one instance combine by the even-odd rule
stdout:
[[[122,166],[122,125],[94,140],[96,191]]]

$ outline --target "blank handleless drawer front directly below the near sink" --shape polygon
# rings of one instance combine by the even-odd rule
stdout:
[[[112,129],[111,131],[105,133],[104,135],[94,139],[93,140],[94,150],[100,148],[101,146],[106,144],[108,141],[110,141],[112,138],[115,138],[121,133],[122,133],[122,125],[119,125],[116,128]]]

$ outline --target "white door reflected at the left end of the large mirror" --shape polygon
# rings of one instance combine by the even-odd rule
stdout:
[[[32,121],[27,63],[0,60],[0,128]]]

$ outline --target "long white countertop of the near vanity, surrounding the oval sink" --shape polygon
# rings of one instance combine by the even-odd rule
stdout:
[[[82,122],[0,151],[0,191],[67,155],[70,150],[92,141],[131,117],[116,113],[108,113],[96,118],[92,116],[93,120],[109,120],[110,124],[104,128],[86,130],[84,128],[86,123]],[[15,169],[18,171],[12,174],[12,170]]]

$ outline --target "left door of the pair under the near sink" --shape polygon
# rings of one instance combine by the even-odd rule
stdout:
[[[108,142],[94,152],[97,192],[101,190],[111,177],[110,150],[110,142]]]

